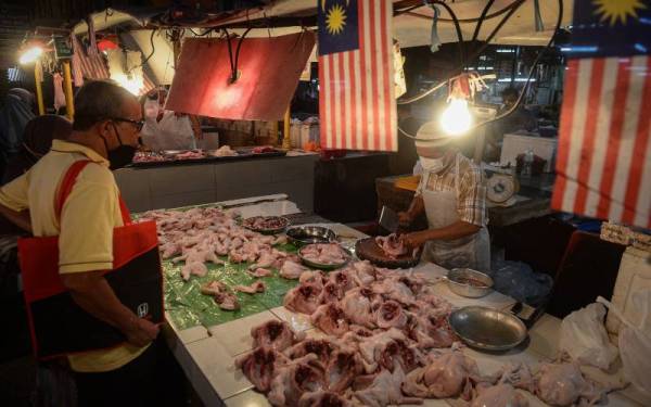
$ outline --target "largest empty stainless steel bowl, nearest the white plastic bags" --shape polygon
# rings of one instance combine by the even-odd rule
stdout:
[[[470,306],[449,316],[452,331],[469,346],[484,351],[508,351],[526,339],[522,321],[501,310]]]

